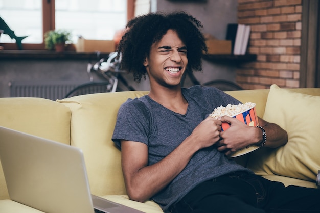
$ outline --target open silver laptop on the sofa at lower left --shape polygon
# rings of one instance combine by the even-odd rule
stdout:
[[[40,211],[142,212],[90,194],[77,147],[0,127],[0,161],[10,199]]]

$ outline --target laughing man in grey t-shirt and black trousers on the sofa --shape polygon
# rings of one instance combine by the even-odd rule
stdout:
[[[261,118],[261,126],[251,127],[208,117],[220,105],[240,102],[213,87],[181,88],[185,72],[201,70],[207,50],[201,27],[183,12],[151,13],[127,24],[118,48],[122,67],[136,81],[146,74],[150,81],[148,95],[121,106],[112,137],[121,147],[129,198],[151,198],[165,212],[319,212],[320,191],[285,188],[227,157],[253,144],[284,145],[285,130]],[[221,132],[222,122],[231,127]]]

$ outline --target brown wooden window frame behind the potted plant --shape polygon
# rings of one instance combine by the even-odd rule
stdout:
[[[134,17],[135,0],[127,0],[127,20]],[[42,36],[55,29],[55,0],[42,0]],[[16,43],[0,43],[5,50],[18,50]],[[23,50],[45,50],[44,41],[40,44],[22,44]],[[75,50],[72,45],[69,50]]]

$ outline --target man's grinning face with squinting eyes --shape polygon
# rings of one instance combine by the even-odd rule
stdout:
[[[161,40],[152,44],[144,61],[151,88],[154,86],[180,87],[188,64],[187,47],[178,34],[168,30]]]

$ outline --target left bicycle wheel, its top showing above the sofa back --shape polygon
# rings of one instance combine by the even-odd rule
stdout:
[[[68,92],[64,96],[64,98],[69,98],[77,95],[110,92],[110,90],[111,85],[109,82],[89,82],[75,87],[73,90]]]

